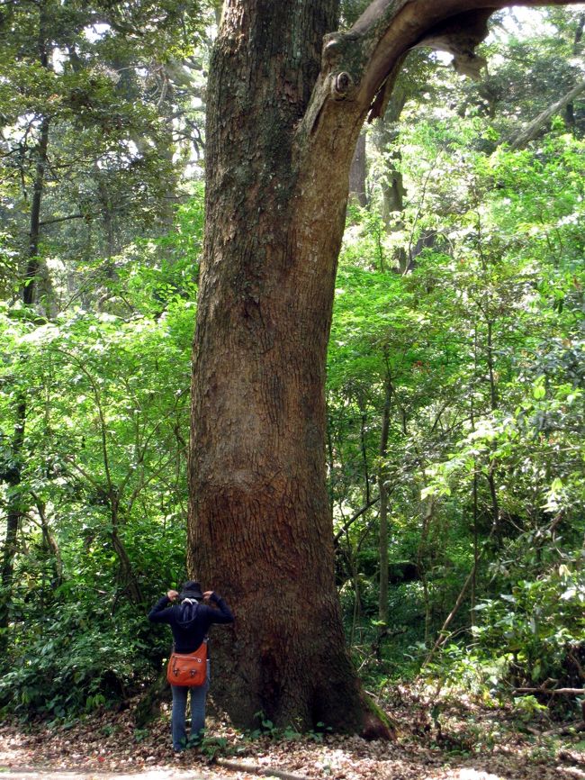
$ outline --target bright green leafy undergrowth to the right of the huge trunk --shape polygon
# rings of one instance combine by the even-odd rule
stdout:
[[[401,154],[372,164],[378,181],[384,166],[401,169],[403,211],[386,230],[373,185],[368,208],[352,207],[340,260],[329,475],[348,633],[365,673],[382,663],[409,674],[467,581],[431,676],[486,695],[549,678],[579,687],[583,141],[558,119],[510,151],[505,117],[473,110],[475,87],[438,80],[426,103],[407,103]],[[459,116],[446,110],[457,101]],[[381,478],[388,628],[377,614]]]

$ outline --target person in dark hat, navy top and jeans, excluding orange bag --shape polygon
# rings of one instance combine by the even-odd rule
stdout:
[[[178,601],[167,609],[168,604]],[[215,608],[203,604],[211,601]],[[234,616],[227,603],[213,591],[202,593],[201,585],[190,580],[184,583],[178,593],[169,590],[148,612],[148,620],[155,623],[168,623],[173,631],[175,652],[193,653],[207,639],[212,623],[231,623]],[[173,692],[173,712],[171,715],[171,734],[175,753],[181,753],[186,744],[185,711],[187,694],[191,690],[191,739],[202,734],[205,727],[205,702],[210,684],[210,662],[207,660],[207,676],[203,685],[171,685]]]

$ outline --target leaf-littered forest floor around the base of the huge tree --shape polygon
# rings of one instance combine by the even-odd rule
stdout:
[[[431,705],[432,702],[432,705]],[[546,712],[429,698],[408,686],[383,702],[397,723],[393,742],[359,737],[245,735],[208,719],[202,748],[175,757],[168,712],[137,729],[133,706],[83,721],[0,726],[6,780],[585,780],[585,737],[561,735]],[[551,733],[551,732],[555,733]],[[131,776],[130,776],[131,775]]]

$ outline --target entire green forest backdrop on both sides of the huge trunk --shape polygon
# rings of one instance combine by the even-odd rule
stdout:
[[[0,703],[24,717],[145,691],[168,651],[145,613],[186,577],[217,9],[116,7],[0,17]],[[578,713],[584,27],[498,14],[476,81],[411,53],[358,146],[324,457],[369,691]]]

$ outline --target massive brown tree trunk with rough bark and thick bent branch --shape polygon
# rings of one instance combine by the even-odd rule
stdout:
[[[348,171],[405,53],[433,45],[471,71],[488,17],[511,4],[375,0],[351,30],[326,34],[337,5],[224,5],[208,89],[188,559],[236,612],[212,647],[214,696],[234,722],[262,711],[278,725],[374,733],[347,656],[325,485]]]

